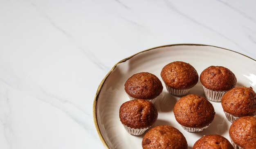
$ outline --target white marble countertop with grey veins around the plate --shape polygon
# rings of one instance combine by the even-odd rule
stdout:
[[[255,0],[1,0],[0,148],[103,149],[92,103],[115,63],[179,43],[256,59],[255,6]]]

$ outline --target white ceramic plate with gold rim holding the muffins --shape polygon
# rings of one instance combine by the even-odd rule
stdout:
[[[201,74],[209,66],[229,68],[237,78],[237,86],[252,86],[256,90],[256,61],[240,53],[215,46],[197,44],[176,44],[142,51],[117,63],[99,85],[94,99],[94,122],[99,136],[106,148],[140,149],[143,135],[132,136],[126,132],[119,120],[119,107],[129,100],[124,90],[125,81],[135,73],[150,72],[161,81],[162,68],[172,61],[184,61],[191,64]],[[164,82],[162,81],[164,86]],[[200,81],[189,94],[204,96]],[[179,129],[186,137],[189,148],[195,141],[207,134],[219,134],[229,139],[229,127],[221,103],[211,102],[216,117],[211,125],[202,132],[190,133],[182,129],[173,114],[173,106],[180,96],[167,93],[164,86],[160,98],[155,101],[158,118],[152,127],[171,125]]]

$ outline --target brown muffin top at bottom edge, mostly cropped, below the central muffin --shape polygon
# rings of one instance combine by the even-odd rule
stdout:
[[[197,140],[193,149],[234,149],[234,147],[223,136],[211,134]]]

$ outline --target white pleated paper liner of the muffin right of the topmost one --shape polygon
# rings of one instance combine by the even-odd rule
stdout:
[[[206,96],[206,98],[214,102],[220,102],[222,96],[227,92],[227,91],[213,91],[205,88],[204,85],[202,86],[203,86],[204,95]]]

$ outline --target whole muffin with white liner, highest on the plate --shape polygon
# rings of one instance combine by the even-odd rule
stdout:
[[[170,94],[182,96],[198,82],[198,72],[188,63],[174,61],[164,66],[161,77]]]

